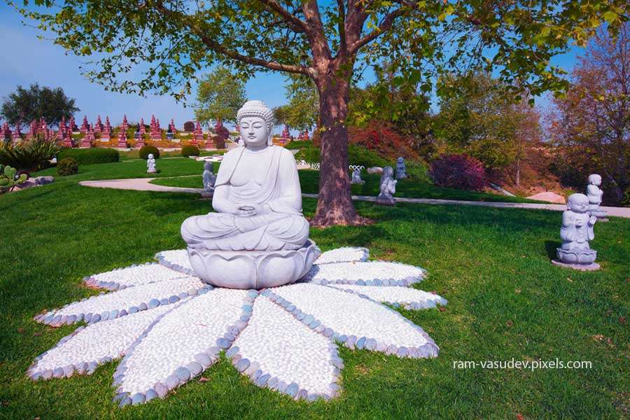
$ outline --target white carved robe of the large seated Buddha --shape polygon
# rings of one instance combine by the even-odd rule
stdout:
[[[228,200],[238,206],[258,204],[264,214],[239,216],[209,213],[193,216],[181,225],[181,236],[191,248],[222,251],[276,251],[298,249],[309,238],[309,223],[302,216],[300,179],[293,154],[279,146],[255,153],[255,165],[267,167],[262,183],[249,179],[235,185],[232,179],[248,174],[241,162],[249,152],[244,147],[225,154],[216,177],[216,191],[230,189]],[[251,162],[251,160],[249,160]],[[240,164],[240,165],[239,165]],[[217,192],[215,192],[215,200]]]

